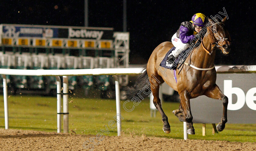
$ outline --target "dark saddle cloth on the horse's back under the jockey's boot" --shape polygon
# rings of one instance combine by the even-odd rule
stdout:
[[[186,49],[186,51],[182,51],[179,56],[175,59],[174,63],[172,64],[172,66],[168,66],[166,65],[166,61],[168,60],[168,55],[173,51],[175,50],[175,47],[172,47],[168,52],[167,54],[165,55],[165,58],[161,61],[160,63],[160,66],[164,67],[164,68],[167,68],[167,69],[171,69],[171,70],[174,70],[177,68],[178,64],[181,63],[185,58],[186,56],[189,54],[191,48],[188,47]]]

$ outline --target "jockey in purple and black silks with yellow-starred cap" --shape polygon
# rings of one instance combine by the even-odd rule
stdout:
[[[166,61],[167,66],[172,66],[175,58],[190,46],[190,41],[195,38],[195,35],[201,31],[206,23],[207,17],[202,13],[197,13],[192,17],[191,21],[185,21],[180,24],[180,28],[172,36],[172,44],[176,48],[169,54]],[[203,34],[199,33],[198,37],[202,38]]]

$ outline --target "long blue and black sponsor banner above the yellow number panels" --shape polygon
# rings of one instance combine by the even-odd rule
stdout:
[[[1,24],[5,38],[43,37],[113,40],[113,28]]]

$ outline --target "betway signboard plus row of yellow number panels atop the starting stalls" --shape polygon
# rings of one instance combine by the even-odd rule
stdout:
[[[0,46],[73,49],[113,49],[113,28],[0,25]]]

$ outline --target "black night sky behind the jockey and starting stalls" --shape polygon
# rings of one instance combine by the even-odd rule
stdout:
[[[123,31],[122,0],[88,0],[89,26]],[[255,1],[127,0],[130,64],[145,64],[158,44],[170,41],[183,21],[198,12],[224,12],[232,40],[229,55],[216,54],[216,65],[256,65]],[[55,5],[58,9],[55,9]],[[7,0],[0,2],[0,23],[84,26],[84,0]],[[220,15],[220,14],[219,14]],[[220,15],[221,17],[223,15]]]

